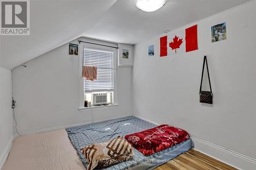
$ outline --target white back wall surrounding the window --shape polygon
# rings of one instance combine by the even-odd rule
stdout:
[[[116,45],[98,40],[91,42]],[[77,40],[71,43],[78,44]],[[117,107],[78,110],[79,57],[68,54],[69,44],[41,55],[13,72],[13,94],[19,132],[91,122],[132,114],[132,68],[118,68]],[[93,115],[93,116],[92,116]]]

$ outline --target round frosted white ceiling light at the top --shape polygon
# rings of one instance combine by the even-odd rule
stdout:
[[[164,6],[166,0],[136,0],[136,6],[142,11],[153,12]]]

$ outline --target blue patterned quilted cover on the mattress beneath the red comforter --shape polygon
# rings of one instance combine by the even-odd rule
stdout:
[[[69,138],[74,145],[74,148],[76,149],[80,159],[84,163],[84,166],[87,167],[87,161],[84,159],[83,154],[80,152],[81,148],[86,147],[92,143],[106,142],[116,138],[117,136],[125,136],[127,134],[140,132],[154,127],[156,127],[155,124],[146,122],[145,120],[134,116],[128,116],[100,123],[67,128],[66,131],[68,132]],[[145,156],[134,149],[135,156],[133,160],[98,169],[153,169],[188,151],[191,148],[191,145],[191,140],[188,139],[180,144],[175,145],[174,147],[168,148],[150,156]]]

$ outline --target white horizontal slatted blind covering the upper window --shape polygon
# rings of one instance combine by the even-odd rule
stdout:
[[[114,90],[114,52],[84,48],[83,65],[97,67],[97,80],[84,79],[85,92]]]

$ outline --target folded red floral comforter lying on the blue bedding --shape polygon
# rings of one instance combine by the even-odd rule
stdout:
[[[186,131],[170,125],[160,125],[156,128],[125,136],[125,139],[144,155],[151,155],[173,147],[188,138],[189,135]]]

